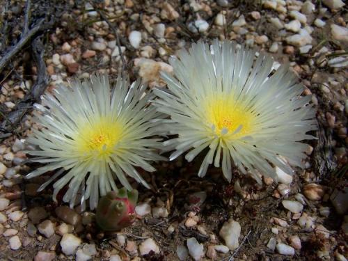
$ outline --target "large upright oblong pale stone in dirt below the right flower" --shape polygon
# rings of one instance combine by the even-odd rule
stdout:
[[[226,246],[230,248],[230,250],[234,251],[239,246],[239,236],[241,232],[241,226],[237,221],[233,219],[229,219],[225,223],[219,232],[220,237],[225,240]]]

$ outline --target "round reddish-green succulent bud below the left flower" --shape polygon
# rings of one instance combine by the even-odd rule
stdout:
[[[110,191],[100,198],[95,216],[98,226],[105,231],[120,230],[130,226],[136,217],[135,207],[138,191],[122,188]]]

